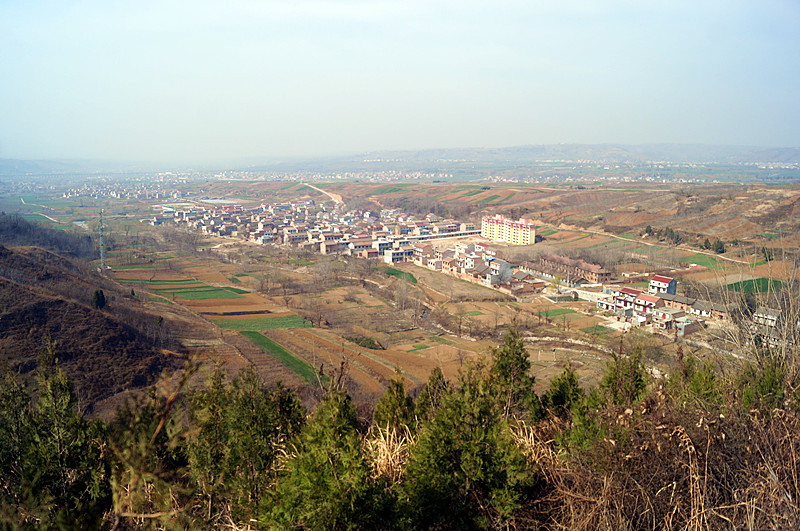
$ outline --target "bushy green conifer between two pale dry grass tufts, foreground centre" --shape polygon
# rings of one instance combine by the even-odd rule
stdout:
[[[504,418],[493,377],[470,367],[420,430],[398,485],[409,529],[513,527],[534,481]]]

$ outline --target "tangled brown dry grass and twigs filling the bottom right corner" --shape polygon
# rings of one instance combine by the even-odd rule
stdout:
[[[655,393],[633,410],[601,412],[608,436],[583,450],[555,442],[557,421],[512,428],[545,486],[528,511],[549,529],[797,529],[796,411],[684,411]]]

